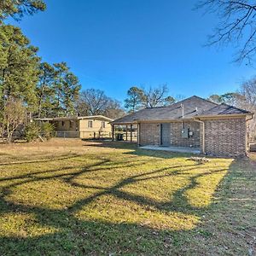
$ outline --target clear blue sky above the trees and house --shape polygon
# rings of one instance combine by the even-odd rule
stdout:
[[[67,61],[84,89],[119,101],[131,85],[167,83],[172,96],[207,97],[236,90],[255,74],[231,63],[234,49],[202,47],[218,20],[193,10],[195,0],[45,3],[45,12],[18,24],[43,61]]]

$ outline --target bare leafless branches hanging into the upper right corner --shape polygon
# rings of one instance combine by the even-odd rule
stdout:
[[[252,63],[256,54],[256,3],[250,0],[201,0],[196,8],[216,13],[218,26],[207,45],[234,44],[238,49],[235,61]]]

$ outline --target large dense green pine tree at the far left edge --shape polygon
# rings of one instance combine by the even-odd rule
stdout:
[[[10,97],[32,110],[36,102],[38,49],[15,26],[0,26],[0,105]]]

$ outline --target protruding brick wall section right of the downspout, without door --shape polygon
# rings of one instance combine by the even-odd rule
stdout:
[[[246,154],[246,119],[212,119],[205,122],[205,149],[217,156]]]

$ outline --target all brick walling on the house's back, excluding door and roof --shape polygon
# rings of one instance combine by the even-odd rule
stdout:
[[[246,119],[205,119],[205,150],[215,156],[244,156],[246,154]],[[171,123],[170,146],[201,148],[202,125],[195,121],[184,122],[193,136],[182,137],[182,123]],[[160,124],[140,124],[140,144],[160,145]]]

